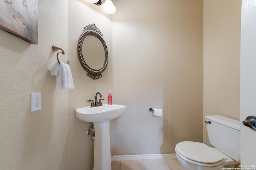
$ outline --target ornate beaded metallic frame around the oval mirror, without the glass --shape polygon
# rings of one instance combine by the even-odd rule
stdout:
[[[87,25],[86,27],[84,27],[84,29],[85,29],[85,31],[80,35],[79,40],[78,40],[78,47],[77,47],[78,48],[78,58],[79,58],[81,65],[88,72],[87,76],[89,76],[90,78],[92,78],[94,80],[97,80],[98,78],[102,77],[101,73],[106,69],[106,67],[108,65],[108,48],[107,48],[105,40],[103,39],[103,34],[100,32],[100,30],[97,28],[97,26],[94,23]],[[86,61],[84,61],[84,57],[83,57],[83,53],[82,53],[82,45],[83,45],[84,39],[90,35],[98,38],[104,47],[105,61],[104,61],[102,68],[100,68],[100,69],[90,68],[88,66],[88,64],[86,64]]]

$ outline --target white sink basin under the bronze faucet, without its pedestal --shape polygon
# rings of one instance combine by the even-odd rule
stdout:
[[[118,104],[104,104],[97,107],[88,106],[76,109],[76,117],[87,122],[105,122],[119,117],[124,113],[125,109],[126,106]]]

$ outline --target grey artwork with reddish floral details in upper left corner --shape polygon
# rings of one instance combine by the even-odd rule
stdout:
[[[38,44],[38,0],[0,0],[0,29]]]

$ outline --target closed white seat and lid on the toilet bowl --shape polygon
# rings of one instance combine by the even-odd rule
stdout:
[[[180,142],[175,151],[182,159],[200,166],[218,166],[224,163],[224,157],[204,143]]]

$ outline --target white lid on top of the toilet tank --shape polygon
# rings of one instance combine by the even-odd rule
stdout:
[[[240,131],[240,121],[235,119],[230,119],[228,117],[224,117],[222,115],[211,115],[211,116],[205,116],[206,119],[210,121],[215,121],[217,123],[220,123],[222,125],[231,127],[233,129],[236,129]]]

